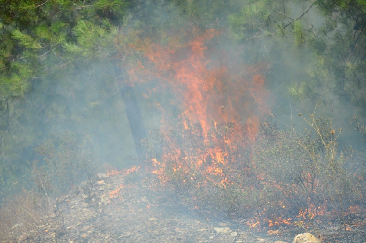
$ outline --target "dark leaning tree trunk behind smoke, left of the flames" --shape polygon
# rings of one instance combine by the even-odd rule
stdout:
[[[131,85],[126,82],[128,74],[124,68],[115,66],[117,82],[121,85],[121,96],[126,109],[128,122],[130,122],[132,137],[134,139],[137,156],[142,156],[143,147],[141,139],[146,137],[145,127],[143,126],[140,108],[138,106],[134,90]]]

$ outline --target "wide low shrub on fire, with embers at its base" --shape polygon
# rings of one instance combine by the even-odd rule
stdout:
[[[338,150],[330,120],[313,126],[295,133],[270,121],[250,144],[247,129],[233,123],[213,122],[207,135],[199,124],[178,124],[157,135],[150,168],[172,198],[204,214],[254,213],[269,225],[330,211],[341,218],[365,195],[364,181],[356,178],[365,163],[351,150]]]

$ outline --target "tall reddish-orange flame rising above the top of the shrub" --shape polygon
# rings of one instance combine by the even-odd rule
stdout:
[[[209,50],[205,44],[219,34],[210,29],[185,44],[173,39],[167,47],[150,40],[135,44],[134,48],[142,51],[148,61],[145,66],[141,64],[140,68],[131,69],[130,75],[134,82],[158,79],[158,87],[174,94],[176,100],[172,103],[181,110],[179,118],[186,128],[188,121],[199,123],[206,135],[212,120],[243,121],[250,124],[247,132],[254,139],[258,130],[255,113],[268,113],[262,100],[266,97],[262,87],[264,76],[259,74],[259,67],[246,68],[239,63],[227,67],[210,57],[219,52],[214,48]],[[144,76],[137,77],[138,73]]]

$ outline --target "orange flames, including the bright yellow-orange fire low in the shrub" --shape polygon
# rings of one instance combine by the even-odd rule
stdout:
[[[219,31],[210,29],[196,34],[188,43],[182,44],[178,38],[173,38],[168,47],[161,47],[145,40],[133,47],[144,53],[147,62],[145,66],[140,63],[139,68],[130,71],[132,82],[158,80],[154,89],[173,94],[169,102],[179,109],[178,121],[184,129],[204,137],[205,149],[194,155],[176,144],[170,147],[171,151],[164,155],[163,161],[153,158],[153,164],[159,167],[155,173],[162,173],[166,161],[174,160],[174,171],[200,168],[200,172],[207,174],[222,174],[221,184],[225,186],[228,179],[222,169],[205,162],[213,160],[216,165],[230,163],[233,158],[229,158],[228,150],[236,149],[232,139],[240,142],[241,146],[246,146],[244,141],[253,142],[259,128],[258,116],[269,113],[264,101],[268,94],[263,87],[264,76],[260,74],[262,67],[245,67],[239,62],[233,62],[231,67],[225,66],[223,62],[228,60],[227,56],[215,48],[209,49],[207,45],[219,35]],[[211,56],[214,55],[219,57],[213,59]],[[138,77],[138,73],[145,77]],[[164,126],[171,127],[167,120],[163,117]],[[219,123],[229,122],[234,127],[228,129],[235,131],[236,136],[217,138],[210,133],[212,129],[217,132]],[[201,130],[192,130],[191,124],[198,124]],[[173,138],[168,139],[174,143]],[[223,144],[220,139],[223,139]]]

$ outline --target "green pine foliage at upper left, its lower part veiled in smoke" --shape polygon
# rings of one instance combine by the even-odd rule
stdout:
[[[85,80],[75,76],[80,73],[77,69],[81,64],[90,67],[92,61],[111,53],[115,47],[113,38],[120,32],[115,31],[116,25],[106,29],[103,23],[123,19],[129,6],[128,1],[121,0],[0,1],[0,181],[3,186],[16,182],[11,180],[24,173],[25,154],[22,153],[31,151],[37,143],[44,143],[46,133],[55,132],[55,124],[46,124],[67,119],[65,104],[74,96],[76,87],[81,90],[81,82]],[[81,62],[81,58],[85,60]],[[109,80],[112,83],[104,86],[107,89],[115,85],[113,79]],[[64,93],[56,94],[56,86]],[[81,114],[78,115],[78,119],[69,118],[80,121]]]

